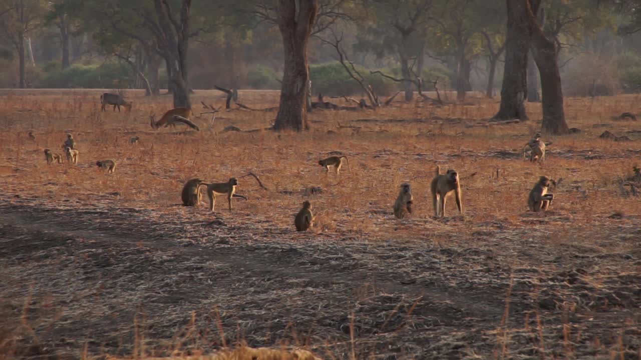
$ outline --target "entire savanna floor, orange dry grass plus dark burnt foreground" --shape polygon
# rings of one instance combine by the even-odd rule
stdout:
[[[275,111],[196,117],[200,132],[149,127],[171,97],[101,112],[99,90],[0,97],[0,358],[188,356],[225,346],[304,347],[328,359],[641,359],[641,202],[620,182],[641,166],[636,95],[566,99],[570,127],[547,161],[520,151],[531,119],[488,122],[497,100],[378,111],[316,110],[308,132],[263,129]],[[220,92],[196,91],[221,106]],[[252,108],[278,92],[242,91]],[[345,105],[341,99],[331,101]],[[600,140],[609,130],[628,142]],[[28,137],[33,131],[35,140]],[[78,165],[47,166],[74,134]],[[328,132],[329,131],[329,132]],[[131,136],[140,136],[136,145]],[[330,152],[351,171],[325,176]],[[105,174],[96,160],[118,161]],[[461,175],[465,215],[432,217],[435,165]],[[240,179],[224,201],[180,205],[192,177]],[[546,213],[526,199],[563,181]],[[414,213],[397,220],[400,183]],[[319,187],[320,192],[310,193]],[[307,191],[306,191],[307,190]],[[309,199],[313,231],[293,216]],[[206,200],[206,199],[205,199]]]

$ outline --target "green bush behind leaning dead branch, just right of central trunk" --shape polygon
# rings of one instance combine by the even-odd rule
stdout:
[[[356,65],[356,69],[365,77],[367,83],[372,85],[374,92],[378,95],[389,95],[398,87],[394,81],[371,75],[369,70],[363,67]],[[342,96],[362,92],[360,85],[347,74],[338,61],[310,65],[310,78],[312,78],[313,94]]]

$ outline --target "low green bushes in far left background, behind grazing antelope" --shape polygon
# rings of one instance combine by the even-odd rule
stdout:
[[[46,65],[43,86],[47,88],[127,88],[135,79],[131,67],[124,63],[102,65],[72,65],[60,70],[59,65]]]

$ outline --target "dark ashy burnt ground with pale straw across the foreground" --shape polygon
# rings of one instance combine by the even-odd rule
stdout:
[[[223,341],[328,358],[641,357],[638,220],[598,230],[637,243],[632,252],[560,252],[501,225],[467,248],[279,241],[287,229],[222,216],[0,200],[0,346],[11,358],[76,359],[85,346],[192,354]],[[494,250],[508,235],[520,238],[510,256],[540,266]]]

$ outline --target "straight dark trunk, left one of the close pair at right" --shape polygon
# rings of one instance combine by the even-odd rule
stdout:
[[[528,0],[506,0],[508,13],[505,40],[505,70],[501,106],[494,119],[528,119],[524,101],[528,97],[528,49],[531,30],[527,25]]]

